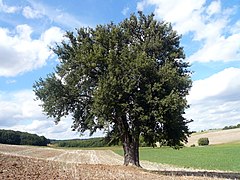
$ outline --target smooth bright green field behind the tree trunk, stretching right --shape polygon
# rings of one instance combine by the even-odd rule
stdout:
[[[115,153],[122,155],[121,149]],[[184,147],[140,148],[140,159],[185,168],[240,172],[240,143]]]

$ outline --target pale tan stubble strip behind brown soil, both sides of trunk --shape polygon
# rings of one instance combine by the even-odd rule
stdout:
[[[0,144],[0,153],[66,163],[122,165],[123,157],[111,150],[69,150]],[[166,164],[141,161],[147,170],[184,170]]]

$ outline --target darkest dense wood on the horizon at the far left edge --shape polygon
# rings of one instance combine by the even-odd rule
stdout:
[[[0,143],[46,146],[50,143],[50,140],[46,139],[44,136],[38,136],[27,132],[0,129]]]

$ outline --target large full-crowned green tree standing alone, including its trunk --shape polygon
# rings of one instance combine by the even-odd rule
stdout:
[[[73,117],[81,133],[105,129],[123,143],[124,164],[139,164],[139,136],[173,147],[187,141],[191,87],[180,36],[154,15],[66,32],[53,49],[55,72],[34,84],[44,112]]]

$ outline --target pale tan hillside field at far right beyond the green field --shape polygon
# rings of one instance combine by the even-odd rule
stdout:
[[[196,133],[188,139],[187,145],[191,146],[192,144],[195,144],[197,146],[198,139],[202,137],[207,137],[211,145],[240,141],[240,128]]]

